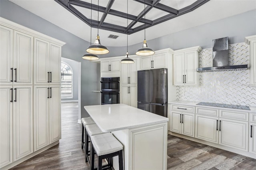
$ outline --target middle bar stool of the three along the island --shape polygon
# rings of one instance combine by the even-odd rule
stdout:
[[[89,160],[88,156],[90,156],[90,154],[89,154],[90,151],[88,150],[89,137],[91,138],[91,136],[94,136],[94,135],[97,135],[97,134],[103,134],[105,132],[102,132],[100,130],[100,128],[96,124],[86,125],[85,129],[86,129],[86,136],[85,136],[85,162],[88,162],[88,160]],[[94,152],[91,152],[91,155],[94,156]]]

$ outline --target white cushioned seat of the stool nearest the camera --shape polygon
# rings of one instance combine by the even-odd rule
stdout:
[[[98,156],[123,149],[123,145],[112,135],[112,133],[91,136],[91,141]]]

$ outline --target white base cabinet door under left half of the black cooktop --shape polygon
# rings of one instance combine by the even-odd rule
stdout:
[[[195,137],[218,143],[218,118],[196,115]]]

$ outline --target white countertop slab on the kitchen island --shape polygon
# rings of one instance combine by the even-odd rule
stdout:
[[[92,105],[84,106],[84,109],[103,132],[155,125],[169,120],[125,104]]]

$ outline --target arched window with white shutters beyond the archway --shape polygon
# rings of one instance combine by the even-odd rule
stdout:
[[[73,71],[70,65],[61,62],[61,99],[73,98]]]

